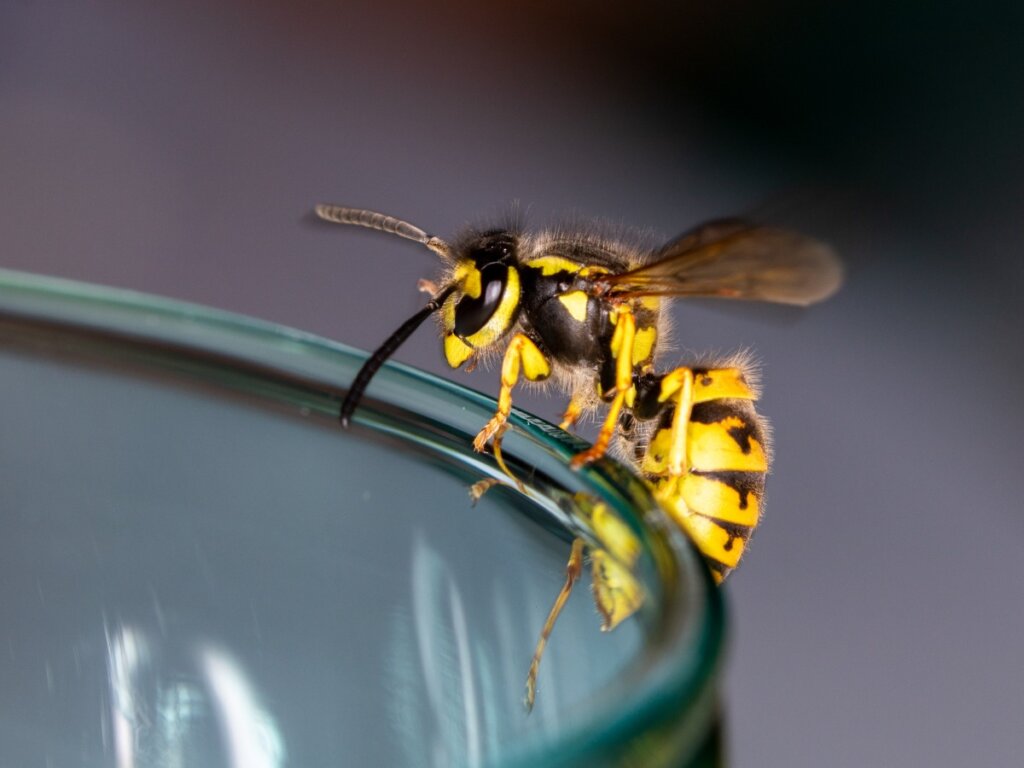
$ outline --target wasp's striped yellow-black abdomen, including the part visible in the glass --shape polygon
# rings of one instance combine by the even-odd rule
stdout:
[[[754,410],[757,394],[748,378],[735,367],[664,375],[637,370],[632,408],[623,418],[632,427],[623,440],[637,471],[717,583],[736,567],[758,524],[769,467],[767,425]],[[624,544],[628,531],[601,514],[602,505],[582,509],[599,544],[591,548],[594,598],[611,629],[643,602],[631,577],[636,553]]]

